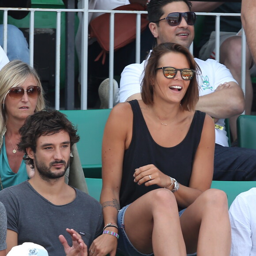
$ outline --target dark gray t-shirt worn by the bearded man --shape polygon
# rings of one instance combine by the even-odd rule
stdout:
[[[18,245],[33,242],[45,247],[49,256],[64,256],[58,237],[63,234],[72,246],[71,236],[65,230],[72,228],[81,234],[89,248],[102,234],[102,206],[86,193],[76,188],[75,192],[71,203],[54,205],[38,194],[28,181],[0,191],[0,201],[8,216],[7,228],[18,233]]]

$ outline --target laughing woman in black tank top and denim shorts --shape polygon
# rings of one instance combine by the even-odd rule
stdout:
[[[142,100],[110,113],[102,144],[105,228],[89,255],[230,254],[226,194],[210,189],[215,128],[195,111],[195,71],[188,49],[160,44],[145,68]]]

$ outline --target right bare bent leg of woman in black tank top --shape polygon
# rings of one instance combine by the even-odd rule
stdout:
[[[230,255],[231,229],[225,192],[218,189],[203,192],[184,211],[180,220],[188,253],[197,251],[197,256]]]

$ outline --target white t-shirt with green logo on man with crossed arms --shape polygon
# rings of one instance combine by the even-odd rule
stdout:
[[[201,75],[197,75],[197,82],[200,86],[199,96],[210,94],[225,82],[236,82],[226,66],[216,60],[200,60],[195,58],[201,69]],[[130,64],[124,68],[120,80],[120,102],[125,102],[130,96],[140,93],[140,84],[143,78],[144,66],[147,60],[141,64]],[[216,124],[225,127],[225,120],[219,119]],[[228,147],[228,137],[225,129],[215,129],[215,143]]]

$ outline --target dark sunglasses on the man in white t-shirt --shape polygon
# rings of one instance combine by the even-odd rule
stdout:
[[[159,19],[158,21],[155,21],[154,23],[157,23],[161,20],[166,19],[170,26],[177,26],[181,23],[182,17],[184,17],[184,19],[188,25],[194,25],[196,22],[196,13],[193,11],[187,11],[187,12],[169,13],[166,18]]]

